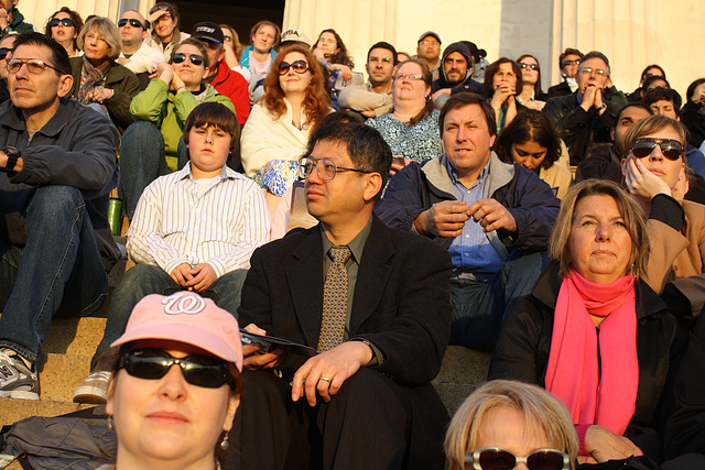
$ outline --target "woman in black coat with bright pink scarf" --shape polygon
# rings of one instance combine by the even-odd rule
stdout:
[[[552,262],[509,306],[492,356],[489,380],[533,383],[565,403],[581,463],[662,458],[684,338],[643,281],[649,239],[642,209],[617,183],[572,186]]]

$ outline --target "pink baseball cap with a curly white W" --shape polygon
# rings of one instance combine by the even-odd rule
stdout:
[[[242,343],[238,320],[209,298],[193,292],[148,295],[132,309],[124,334],[111,348],[138,339],[184,342],[234,362],[242,371]]]

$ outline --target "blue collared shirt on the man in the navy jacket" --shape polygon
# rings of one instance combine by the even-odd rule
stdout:
[[[489,184],[489,162],[469,188],[458,181],[455,170],[447,160],[446,170],[455,188],[455,196],[458,200],[467,203],[468,207],[478,199],[489,197],[485,195]],[[471,275],[477,280],[488,280],[501,269],[503,263],[501,255],[487,238],[482,226],[474,219],[465,222],[463,233],[453,240],[448,251],[453,259],[454,276]]]

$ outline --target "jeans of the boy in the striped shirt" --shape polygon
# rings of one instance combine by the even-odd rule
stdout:
[[[240,291],[247,276],[247,270],[230,271],[218,277],[210,287],[200,292],[200,296],[210,298],[224,310],[237,318],[240,306]],[[98,357],[110,348],[123,332],[132,309],[144,296],[150,294],[171,295],[183,288],[164,270],[151,264],[137,264],[128,270],[112,293],[112,303],[108,314],[106,331],[90,361],[95,370]]]

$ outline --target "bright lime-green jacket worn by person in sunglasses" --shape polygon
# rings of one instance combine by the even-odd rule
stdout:
[[[196,106],[209,101],[225,105],[235,113],[230,98],[218,95],[210,85],[205,85],[205,89],[197,95],[188,91],[174,95],[164,80],[152,78],[144,91],[132,99],[130,114],[135,121],[150,121],[162,131],[166,164],[174,172],[178,139],[184,134],[186,118]]]

